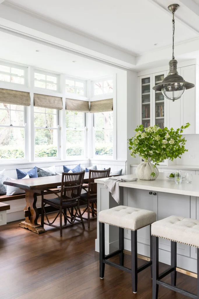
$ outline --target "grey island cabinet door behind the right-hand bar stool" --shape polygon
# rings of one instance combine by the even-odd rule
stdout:
[[[158,192],[158,220],[171,215],[190,218],[190,196]],[[159,239],[159,248],[171,250],[171,242]],[[177,253],[190,257],[190,247],[177,243]]]

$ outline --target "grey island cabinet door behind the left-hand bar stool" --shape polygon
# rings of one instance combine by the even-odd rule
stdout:
[[[145,210],[151,210],[157,213],[157,195],[150,195],[147,190],[138,190],[127,188],[127,206]],[[150,244],[150,228],[149,226],[141,228],[137,233],[138,242]],[[131,232],[126,230],[125,238],[131,239]]]

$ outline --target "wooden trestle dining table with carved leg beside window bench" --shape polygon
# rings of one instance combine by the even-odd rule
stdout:
[[[37,223],[39,217],[39,212],[36,207],[37,196],[41,195],[41,191],[61,186],[61,178],[62,175],[4,181],[5,185],[18,187],[22,190],[25,190],[25,220],[19,223],[20,227],[28,228],[30,231],[33,231],[36,234],[45,233],[45,229],[41,226],[41,224]],[[88,182],[88,178],[89,172],[86,172],[84,174],[84,183]]]

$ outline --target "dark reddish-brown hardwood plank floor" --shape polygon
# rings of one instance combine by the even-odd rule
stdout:
[[[18,227],[19,221],[0,226],[0,298],[1,299],[150,299],[150,268],[138,274],[138,292],[132,293],[130,274],[105,266],[104,280],[99,278],[98,253],[95,252],[96,220],[63,230],[45,226],[37,235]],[[118,257],[112,258],[118,261]],[[130,256],[125,255],[129,267]],[[145,261],[138,260],[138,266]],[[161,264],[160,271],[166,269]],[[165,279],[170,282],[170,276]],[[196,279],[177,273],[177,285],[196,293]],[[158,299],[186,298],[159,287]]]

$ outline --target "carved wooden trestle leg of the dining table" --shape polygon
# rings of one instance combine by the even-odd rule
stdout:
[[[25,221],[19,223],[20,227],[28,228],[30,231],[33,231],[36,234],[45,233],[45,229],[37,223],[38,220],[38,211],[36,208],[37,195],[34,190],[25,190],[26,191],[26,206],[24,208]]]

